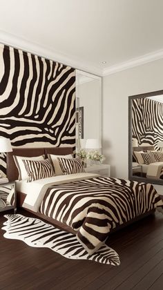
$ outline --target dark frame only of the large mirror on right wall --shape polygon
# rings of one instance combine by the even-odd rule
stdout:
[[[132,101],[133,99],[142,99],[146,97],[154,97],[156,95],[163,95],[163,90],[156,90],[150,93],[140,95],[133,95],[128,97],[128,179],[136,180],[138,182],[146,182],[152,184],[163,185],[163,180],[155,180],[146,177],[133,176],[132,162],[133,162],[133,146],[132,146]]]

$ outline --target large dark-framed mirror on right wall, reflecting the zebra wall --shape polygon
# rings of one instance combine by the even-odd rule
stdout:
[[[129,97],[128,177],[163,184],[163,90]]]

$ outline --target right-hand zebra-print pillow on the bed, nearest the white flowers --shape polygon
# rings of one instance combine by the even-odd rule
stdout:
[[[61,170],[64,175],[73,174],[73,173],[82,173],[84,171],[84,166],[81,164],[81,160],[79,158],[57,158],[59,161],[59,165],[61,166]]]

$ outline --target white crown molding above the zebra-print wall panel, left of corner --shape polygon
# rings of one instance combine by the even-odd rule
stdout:
[[[8,46],[19,48],[23,51],[31,52],[41,57],[52,59],[53,61],[57,61],[60,64],[71,66],[73,68],[83,70],[85,72],[90,72],[100,77],[102,76],[102,69],[93,66],[93,64],[89,64],[88,62],[84,63],[84,61],[81,61],[77,58],[75,59],[75,57],[73,56],[70,57],[64,53],[60,53],[55,50],[46,48],[44,46],[40,46],[37,43],[28,41],[27,39],[23,39],[21,37],[17,37],[2,30],[0,30],[0,42]]]

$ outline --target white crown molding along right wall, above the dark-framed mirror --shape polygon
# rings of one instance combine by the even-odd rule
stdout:
[[[104,68],[102,76],[111,75],[115,72],[120,72],[122,70],[127,70],[128,68],[134,68],[135,66],[142,66],[142,64],[148,64],[148,62],[156,61],[163,58],[163,49],[156,50],[154,52],[142,55],[141,57],[135,57],[134,59],[129,59],[115,66],[108,66]]]

